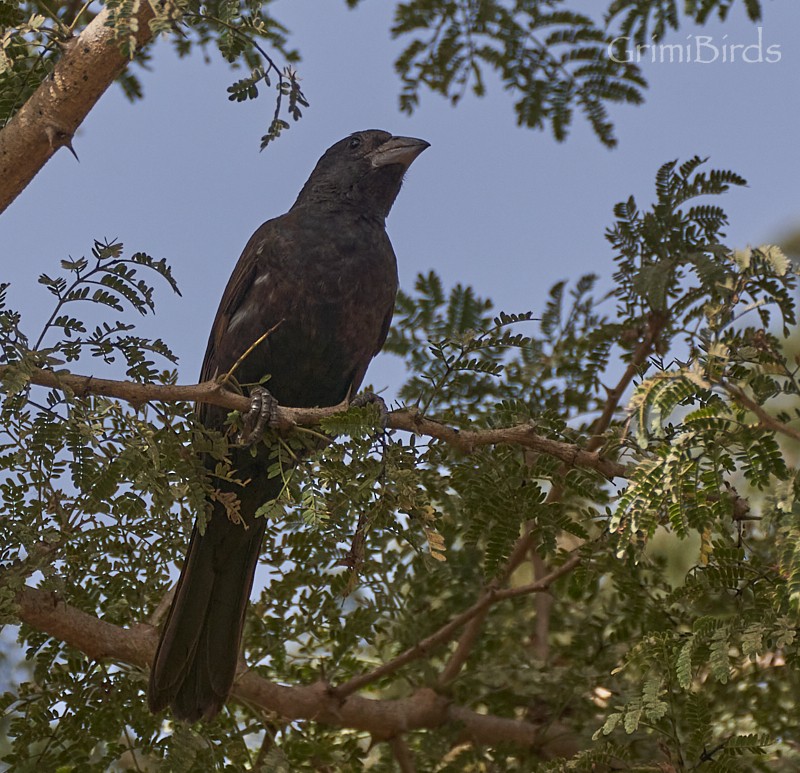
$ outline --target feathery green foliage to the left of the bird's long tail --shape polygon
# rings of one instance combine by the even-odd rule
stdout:
[[[187,485],[199,477],[197,460],[185,453],[197,442],[190,406],[134,408],[29,383],[32,368],[82,355],[95,372],[120,357],[131,379],[176,378],[151,360],[155,354],[174,362],[165,344],[133,336],[131,324],[102,319],[103,310],[152,311],[150,277],[159,275],[177,289],[169,266],[143,253],[125,257],[120,244],[96,242],[92,253],[91,260],[63,261],[66,276],[41,278],[55,304],[38,336],[23,332],[21,316],[5,301],[0,307],[6,622],[14,617],[14,596],[7,591],[39,577],[40,587],[126,625],[151,606],[154,588],[166,577],[164,563],[149,557],[182,543],[193,513],[203,507],[203,487]],[[94,332],[87,332],[80,308],[99,315]],[[14,769],[39,760],[55,770],[83,760],[85,770],[107,770],[141,732],[118,710],[138,701],[141,676],[127,666],[92,662],[29,629],[21,635],[33,659],[33,681],[2,699],[7,732],[15,739],[6,762]],[[42,700],[37,685],[44,694],[61,695],[59,705]],[[150,727],[152,732],[155,723]]]

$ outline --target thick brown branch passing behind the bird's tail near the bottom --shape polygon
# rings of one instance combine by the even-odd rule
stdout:
[[[110,658],[147,668],[155,653],[156,630],[149,625],[120,628],[71,607],[43,590],[23,588],[17,594],[19,618],[92,659]],[[513,719],[478,714],[454,706],[431,689],[417,690],[398,700],[373,700],[358,695],[344,698],[327,684],[287,687],[252,672],[240,674],[234,697],[287,720],[313,720],[336,727],[363,730],[388,740],[417,729],[434,729],[453,723],[475,743],[515,743],[543,747],[549,732]]]

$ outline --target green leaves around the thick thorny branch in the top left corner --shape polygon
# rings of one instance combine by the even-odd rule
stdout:
[[[150,46],[137,46],[140,3],[109,0],[104,5],[109,13],[107,24],[113,28],[124,55],[147,66]],[[231,100],[256,98],[260,84],[273,89],[275,109],[261,140],[262,149],[289,128],[286,118],[299,120],[301,108],[308,106],[292,66],[298,54],[289,48],[287,30],[272,16],[271,5],[272,0],[246,4],[229,0],[150,3],[155,14],[150,21],[153,38],[166,36],[178,56],[187,56],[197,48],[209,56],[215,49],[233,69],[250,72],[228,89]],[[97,13],[90,3],[0,2],[0,128],[52,73],[63,51]],[[276,55],[284,65],[276,62]],[[126,70],[119,83],[129,99],[141,98],[141,83],[132,70]]]

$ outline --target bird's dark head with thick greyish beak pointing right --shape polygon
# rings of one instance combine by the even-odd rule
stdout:
[[[344,204],[385,218],[406,170],[428,145],[425,140],[394,137],[379,129],[355,132],[325,151],[293,209],[310,203]]]

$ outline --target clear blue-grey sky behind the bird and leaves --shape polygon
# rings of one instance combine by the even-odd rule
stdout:
[[[599,13],[607,3],[577,3]],[[800,225],[795,152],[800,3],[765,0],[761,30],[736,3],[729,20],[684,27],[668,42],[777,47],[778,61],[745,64],[643,62],[644,105],[613,106],[619,146],[604,147],[576,113],[566,142],[519,128],[513,99],[490,80],[490,93],[453,108],[422,92],[407,116],[398,109],[393,62],[403,41],[389,28],[394,3],[278,0],[274,14],[291,44],[311,105],[302,120],[264,152],[272,95],[228,101],[232,73],[218,58],[178,59],[159,41],[145,98],[130,104],[114,86],[74,140],[80,163],[59,151],[0,215],[0,281],[33,333],[49,315],[39,284],[59,261],[88,255],[94,239],[116,238],[131,252],[166,258],[183,291],[157,295],[158,313],[142,320],[180,357],[180,380],[196,380],[218,300],[250,234],[285,212],[322,152],[347,134],[383,128],[421,137],[431,147],[407,175],[388,230],[401,285],[437,271],[445,286],[471,284],[498,309],[541,310],[548,288],[613,270],[604,239],[612,207],[635,194],[653,197],[665,161],[695,154],[743,174],[749,187],[722,202],[731,246],[774,242]],[[710,49],[706,49],[707,51]],[[708,58],[708,57],[696,57]],[[401,370],[384,356],[367,376],[391,399]]]

